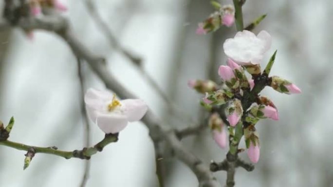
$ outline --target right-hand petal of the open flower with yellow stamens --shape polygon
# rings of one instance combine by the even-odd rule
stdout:
[[[121,110],[129,121],[140,120],[148,110],[147,104],[140,99],[122,100],[121,103]]]

